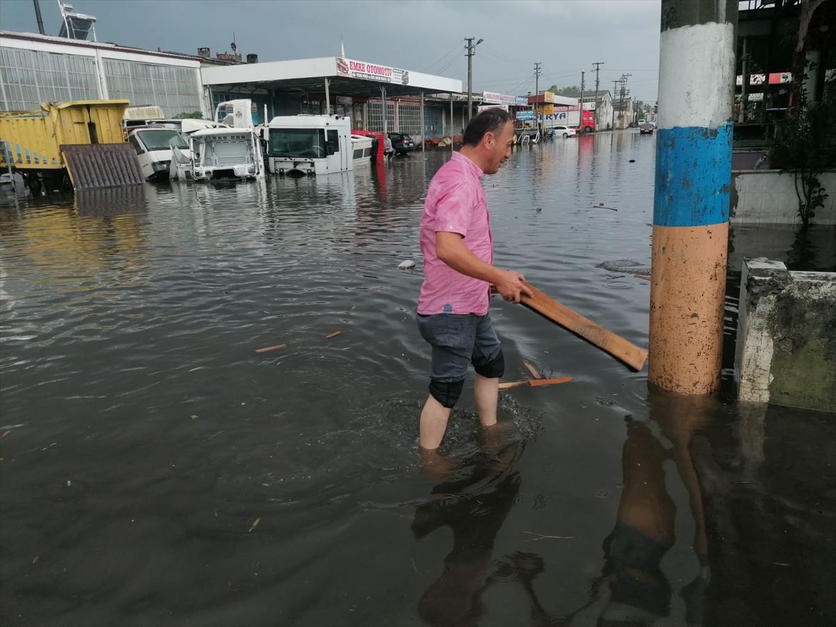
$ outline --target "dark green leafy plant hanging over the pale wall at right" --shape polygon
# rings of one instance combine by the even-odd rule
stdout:
[[[778,124],[769,156],[773,167],[794,171],[798,217],[808,227],[828,197],[819,176],[836,169],[836,98],[810,102],[802,90],[793,115]]]

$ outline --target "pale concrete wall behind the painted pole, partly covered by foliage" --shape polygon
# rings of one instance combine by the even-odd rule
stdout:
[[[813,222],[836,224],[836,172],[819,177],[828,197]],[[732,172],[732,224],[799,224],[793,172],[745,170]],[[799,182],[799,190],[800,190]]]

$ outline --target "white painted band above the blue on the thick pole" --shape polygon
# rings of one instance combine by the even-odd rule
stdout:
[[[734,24],[671,28],[661,33],[659,52],[658,127],[726,125],[736,75]]]

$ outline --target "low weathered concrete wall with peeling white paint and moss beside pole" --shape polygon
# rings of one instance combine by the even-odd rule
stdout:
[[[836,273],[744,260],[735,379],[740,400],[836,411]]]

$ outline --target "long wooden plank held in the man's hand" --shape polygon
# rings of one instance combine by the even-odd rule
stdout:
[[[558,303],[554,298],[541,292],[530,283],[525,284],[534,296],[532,298],[523,295],[523,305],[611,354],[615,359],[629,365],[633,370],[641,370],[644,367],[647,359],[645,349],[604,329],[600,324],[595,324],[592,320],[584,318],[581,314],[562,303]]]

